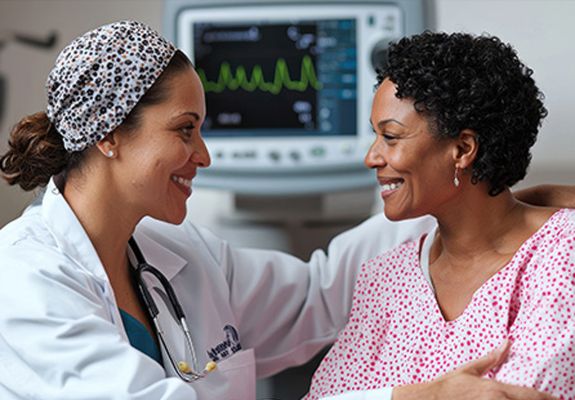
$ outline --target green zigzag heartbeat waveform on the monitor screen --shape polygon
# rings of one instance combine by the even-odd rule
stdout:
[[[206,92],[221,93],[224,90],[243,89],[247,92],[261,90],[271,94],[278,94],[283,88],[287,90],[305,91],[308,87],[315,90],[321,89],[321,82],[318,81],[315,68],[310,56],[304,56],[301,61],[300,79],[292,80],[286,61],[278,58],[276,61],[274,78],[271,82],[266,82],[262,67],[255,65],[252,74],[248,78],[245,67],[238,66],[235,73],[232,72],[230,63],[223,62],[220,66],[217,81],[209,81],[203,69],[198,68],[198,75],[204,85]]]

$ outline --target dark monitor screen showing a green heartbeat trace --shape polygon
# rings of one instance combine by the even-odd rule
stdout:
[[[195,22],[206,137],[357,133],[356,20]]]

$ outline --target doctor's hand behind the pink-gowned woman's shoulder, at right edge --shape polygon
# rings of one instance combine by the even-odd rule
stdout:
[[[575,208],[575,186],[537,185],[517,190],[513,195],[535,206]]]

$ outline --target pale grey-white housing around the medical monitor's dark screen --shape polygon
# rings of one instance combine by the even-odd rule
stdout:
[[[251,134],[243,129],[235,135],[233,129],[224,130],[221,134],[205,126],[202,132],[212,156],[212,166],[200,171],[197,181],[200,186],[231,190],[237,194],[278,196],[355,190],[375,184],[373,173],[363,165],[365,153],[374,139],[369,121],[376,83],[374,60],[385,57],[390,41],[423,30],[422,2],[166,2],[166,33],[193,62],[198,53],[195,48],[198,38],[194,36],[198,24],[207,27],[252,26],[257,30],[257,27],[274,24],[294,24],[297,27],[322,21],[353,21],[355,50],[348,50],[348,53],[355,56],[355,65],[349,63],[355,71],[343,74],[347,83],[337,89],[342,96],[355,100],[353,112],[350,112],[350,118],[354,118],[351,129],[348,126],[345,132],[331,134],[329,121],[324,121],[321,127],[318,126],[318,130],[323,128],[323,131],[315,131],[319,134],[305,134],[303,131],[303,134],[282,134],[281,129],[269,132],[254,130]],[[324,65],[330,68],[329,63]],[[248,76],[250,72],[253,71],[248,70]],[[297,78],[297,73],[290,73]],[[321,74],[318,70],[320,82]],[[264,79],[269,81],[271,77]],[[318,96],[321,96],[321,90],[318,89]],[[240,91],[234,96],[238,102],[242,101]],[[325,104],[332,103],[328,100]],[[302,104],[305,108],[305,102]],[[251,106],[259,107],[258,104]],[[341,110],[332,111],[320,104],[314,112],[314,118],[320,118],[320,113],[322,118],[332,118],[331,112]]]

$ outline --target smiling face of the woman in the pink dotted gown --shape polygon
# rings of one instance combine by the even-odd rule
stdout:
[[[455,144],[432,136],[413,101],[395,93],[395,84],[386,79],[375,94],[371,123],[376,138],[365,164],[377,171],[389,219],[436,215],[456,192]]]

